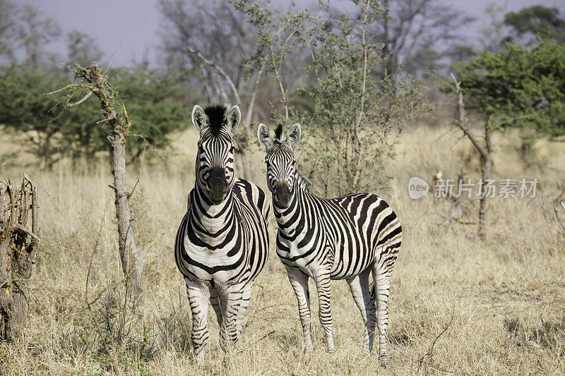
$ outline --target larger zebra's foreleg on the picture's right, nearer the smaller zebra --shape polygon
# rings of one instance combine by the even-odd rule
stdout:
[[[225,299],[220,302],[222,307],[225,306],[220,326],[220,344],[224,350],[229,350],[239,340],[245,311],[249,306],[249,298],[251,298],[251,285],[245,285],[229,289],[225,293]]]

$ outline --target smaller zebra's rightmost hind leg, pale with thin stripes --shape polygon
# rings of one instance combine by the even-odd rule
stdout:
[[[373,271],[376,303],[376,327],[379,330],[379,356],[381,365],[386,366],[386,328],[388,327],[388,294],[391,288],[392,267],[375,267]]]

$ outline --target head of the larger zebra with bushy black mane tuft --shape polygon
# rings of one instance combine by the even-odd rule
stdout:
[[[200,132],[196,155],[196,182],[213,205],[220,204],[234,185],[232,132],[242,120],[239,107],[224,106],[192,110],[192,123]]]

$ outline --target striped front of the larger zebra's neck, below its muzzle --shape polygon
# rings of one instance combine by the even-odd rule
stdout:
[[[231,224],[234,224],[233,193],[227,194],[223,202],[210,205],[203,190],[196,184],[195,194],[191,201],[191,222],[195,234],[200,238],[213,238],[218,243],[230,234]]]

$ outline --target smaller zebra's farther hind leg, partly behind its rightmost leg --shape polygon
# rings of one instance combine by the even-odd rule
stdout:
[[[361,311],[361,317],[365,325],[364,348],[370,353],[373,350],[376,306],[371,298],[371,292],[369,291],[369,274],[371,274],[370,268],[352,279],[347,279],[347,284],[349,284],[353,300],[355,300],[359,311]]]

